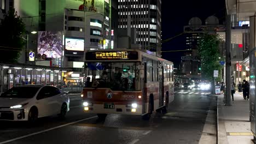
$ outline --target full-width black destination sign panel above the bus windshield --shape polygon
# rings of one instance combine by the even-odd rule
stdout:
[[[93,51],[86,52],[86,60],[136,60],[137,51]]]

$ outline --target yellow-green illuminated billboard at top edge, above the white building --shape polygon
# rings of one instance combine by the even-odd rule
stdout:
[[[104,0],[66,0],[66,8],[104,13]]]

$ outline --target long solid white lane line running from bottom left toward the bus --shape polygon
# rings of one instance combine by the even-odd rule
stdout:
[[[24,139],[24,138],[29,137],[29,136],[32,136],[32,135],[41,134],[41,133],[44,133],[44,132],[46,132],[46,131],[50,131],[50,130],[58,129],[58,128],[61,128],[61,127],[65,127],[65,126],[67,126],[67,125],[71,125],[71,124],[83,122],[83,121],[86,121],[86,120],[88,120],[88,119],[92,119],[92,118],[96,118],[96,117],[97,117],[97,116],[89,117],[89,118],[85,118],[85,119],[80,119],[79,121],[75,121],[75,122],[72,122],[72,123],[67,123],[67,124],[59,125],[59,126],[57,126],[57,127],[53,127],[53,128],[46,129],[46,130],[41,130],[41,131],[38,131],[38,132],[36,132],[36,133],[32,133],[32,134],[28,134],[28,135],[16,137],[16,138],[11,139],[11,140],[3,141],[3,142],[0,142],[0,144],[7,143],[7,142],[12,142],[12,141],[16,141],[16,140],[20,140],[20,139]]]

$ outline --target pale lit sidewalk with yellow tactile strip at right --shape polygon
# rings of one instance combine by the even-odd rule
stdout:
[[[249,122],[249,100],[242,93],[234,94],[231,106],[224,106],[223,94],[218,95],[218,143],[253,144]]]

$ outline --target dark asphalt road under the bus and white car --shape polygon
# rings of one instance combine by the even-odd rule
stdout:
[[[200,89],[176,89],[166,115],[155,113],[149,121],[140,116],[108,115],[99,121],[83,113],[79,95],[71,96],[66,119],[40,118],[37,125],[0,122],[2,143],[198,143],[212,97]]]

